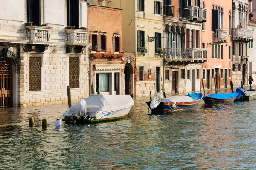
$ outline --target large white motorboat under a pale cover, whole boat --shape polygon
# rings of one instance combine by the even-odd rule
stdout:
[[[93,94],[81,99],[64,114],[65,122],[104,122],[125,117],[134,101],[130,95]]]

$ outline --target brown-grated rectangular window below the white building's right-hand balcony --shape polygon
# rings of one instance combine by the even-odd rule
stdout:
[[[79,88],[79,58],[69,58],[70,88]]]

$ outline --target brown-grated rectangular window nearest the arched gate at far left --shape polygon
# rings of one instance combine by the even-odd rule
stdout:
[[[29,57],[29,91],[41,90],[41,57]]]

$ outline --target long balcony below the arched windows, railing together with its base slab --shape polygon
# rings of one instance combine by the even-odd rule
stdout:
[[[185,61],[185,62],[205,62],[208,49],[187,48],[187,49],[167,49],[166,61]]]

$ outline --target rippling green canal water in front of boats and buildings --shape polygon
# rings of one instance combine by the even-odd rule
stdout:
[[[0,110],[2,170],[181,170],[256,168],[256,101],[172,114],[145,98],[125,119],[55,128],[67,105]],[[29,128],[29,117],[35,127]],[[41,129],[43,118],[47,130]]]

